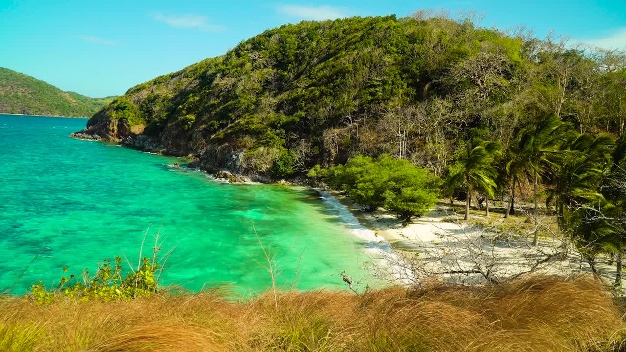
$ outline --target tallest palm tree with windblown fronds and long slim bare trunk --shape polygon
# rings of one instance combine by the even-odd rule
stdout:
[[[553,160],[562,153],[563,143],[568,139],[571,124],[560,121],[555,116],[541,118],[535,124],[521,130],[518,140],[511,147],[515,154],[508,168],[526,170],[533,179],[535,198],[535,233],[533,246],[536,246],[539,234],[537,183],[540,175],[554,165]]]

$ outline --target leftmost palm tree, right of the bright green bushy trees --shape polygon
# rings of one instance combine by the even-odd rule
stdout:
[[[467,194],[465,198],[465,220],[470,218],[469,205],[471,204],[472,192],[481,192],[487,195],[487,202],[489,202],[489,197],[494,196],[495,179],[498,176],[495,159],[498,155],[500,155],[499,143],[476,138],[468,143],[453,166],[456,172],[449,177],[448,183],[457,187],[463,185],[465,188]]]

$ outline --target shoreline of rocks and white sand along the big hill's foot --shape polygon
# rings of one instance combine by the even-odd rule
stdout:
[[[71,137],[81,140],[94,140],[80,138],[81,136],[77,135],[73,135]],[[137,150],[138,152],[163,155],[162,153],[151,153],[145,150],[128,147],[121,143],[116,144],[120,147]],[[169,156],[176,157],[181,161],[185,160],[183,157],[175,155]],[[233,179],[230,177],[220,177],[222,176],[220,175],[220,172],[213,173],[208,170],[203,170],[202,168],[198,168],[197,170],[205,173],[207,177],[217,182],[227,182],[229,184],[257,183],[233,182]],[[398,274],[395,268],[403,260],[401,259],[403,256],[408,255],[409,257],[412,257],[414,254],[418,255],[416,254],[418,252],[428,254],[428,252],[432,251],[433,248],[442,250],[443,248],[440,246],[441,242],[447,242],[449,247],[454,242],[463,242],[468,239],[473,239],[476,236],[482,237],[483,232],[488,234],[488,236],[491,236],[490,234],[493,232],[493,228],[501,227],[500,230],[506,231],[506,227],[510,225],[520,225],[521,222],[525,222],[523,218],[527,217],[522,213],[520,217],[513,215],[509,219],[503,219],[501,214],[496,212],[498,207],[494,205],[491,208],[491,216],[486,217],[482,210],[480,210],[480,212],[478,212],[478,210],[472,210],[474,213],[472,215],[473,220],[471,222],[464,222],[463,220],[460,220],[462,219],[462,214],[459,212],[459,207],[462,207],[461,204],[449,204],[444,202],[444,200],[440,200],[433,205],[428,214],[414,218],[410,224],[403,224],[402,220],[397,219],[395,214],[389,210],[378,209],[374,212],[369,212],[363,210],[361,205],[357,204],[350,197],[342,194],[341,192],[315,187],[314,185],[310,185],[308,182],[302,181],[302,179],[295,178],[287,181],[282,180],[278,182],[259,183],[282,186],[287,185],[289,187],[305,187],[310,190],[315,190],[317,194],[320,195],[322,202],[327,202],[324,200],[326,197],[334,199],[334,201],[344,207],[346,212],[352,215],[356,222],[358,222],[359,227],[361,227],[352,227],[350,230],[352,236],[355,236],[357,239],[361,239],[361,241],[364,242],[364,246],[360,250],[362,252],[369,252],[370,255],[373,256],[371,259],[383,259],[383,261],[386,262],[386,264],[393,270],[393,272],[389,272],[389,274],[397,277],[406,277],[406,275],[401,273]],[[332,206],[333,205],[331,205],[331,207]],[[336,215],[342,217],[341,214],[344,210],[335,210],[337,213]],[[500,210],[502,210],[501,207]],[[461,215],[459,216],[459,214]],[[450,221],[450,217],[456,217],[458,221]],[[346,222],[346,224],[349,225],[349,227],[350,225],[356,225],[353,224],[351,220]],[[500,231],[496,230],[496,232]],[[496,234],[496,232],[493,232],[493,234]],[[546,249],[550,249],[550,241],[552,240],[543,240],[543,242],[546,242],[544,245],[548,245]],[[457,245],[453,244],[452,247],[457,247]],[[513,247],[496,245],[495,247],[486,248],[486,250],[492,251],[493,255],[500,257],[503,261],[501,262],[501,269],[511,274],[523,271],[525,267],[522,262],[526,260],[525,258],[536,254],[533,249],[528,248],[524,244],[516,244]],[[608,266],[606,264],[602,265],[598,263],[597,267],[603,271],[602,276],[607,278],[611,275],[610,273],[615,270],[613,266]],[[570,258],[569,260],[553,263],[550,264],[550,266],[543,267],[540,271],[548,274],[569,276],[580,273],[581,271],[587,272],[588,270],[583,269],[577,264],[577,258]]]

